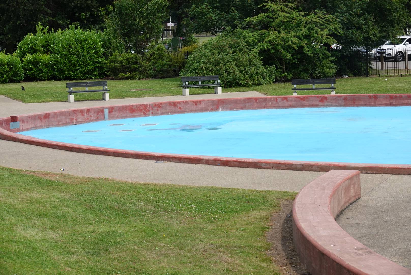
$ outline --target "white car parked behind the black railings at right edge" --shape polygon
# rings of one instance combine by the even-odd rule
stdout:
[[[382,54],[384,59],[393,58],[396,61],[403,61],[405,54],[411,54],[411,35],[397,36],[395,41],[388,40],[377,49],[373,49],[372,55],[376,60],[381,58],[381,54],[377,53],[379,49],[382,49],[382,52],[385,50],[385,53]]]

